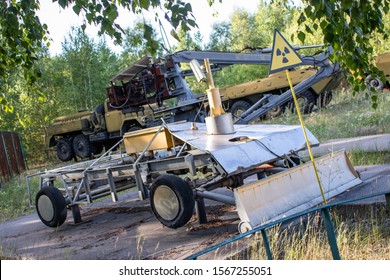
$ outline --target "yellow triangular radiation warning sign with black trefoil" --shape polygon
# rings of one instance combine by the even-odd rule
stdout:
[[[275,29],[272,45],[271,67],[269,73],[275,73],[302,64],[302,59],[280,32]]]

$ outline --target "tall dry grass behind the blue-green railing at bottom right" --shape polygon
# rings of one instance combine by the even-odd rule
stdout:
[[[338,206],[331,213],[342,259],[390,258],[390,217],[384,205]],[[274,259],[333,258],[319,214],[298,224],[269,229],[267,234]],[[267,259],[260,236],[256,236],[253,246],[241,258]]]

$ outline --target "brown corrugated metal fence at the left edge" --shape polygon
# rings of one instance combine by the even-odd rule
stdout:
[[[0,184],[24,170],[26,164],[19,134],[0,131]]]

